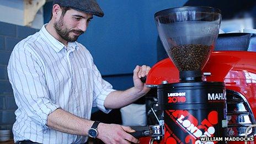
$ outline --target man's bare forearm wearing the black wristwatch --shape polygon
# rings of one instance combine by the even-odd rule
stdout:
[[[62,109],[56,109],[47,118],[47,126],[51,129],[74,135],[88,136],[88,130],[93,121],[79,118]]]

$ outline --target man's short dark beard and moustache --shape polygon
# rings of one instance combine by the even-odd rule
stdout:
[[[66,40],[67,42],[76,41],[78,39],[78,37],[84,33],[84,31],[82,31],[82,30],[68,29],[67,26],[64,24],[62,18],[54,23],[54,28],[55,28],[57,34],[60,35],[61,38]],[[70,36],[71,32],[78,33],[79,35]]]

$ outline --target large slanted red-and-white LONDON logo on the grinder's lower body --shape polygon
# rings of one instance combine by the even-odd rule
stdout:
[[[173,136],[177,143],[182,143],[182,141],[184,143],[195,144],[205,143],[200,141],[200,137],[216,136],[215,126],[218,124],[218,112],[215,110],[210,111],[210,113],[207,114],[206,118],[203,119],[201,122],[198,121],[198,119],[195,116],[191,115],[187,110],[166,110],[166,113],[182,130],[184,130],[185,134],[188,134],[181,141],[179,137]],[[174,131],[175,130],[171,131],[172,135],[175,134]]]

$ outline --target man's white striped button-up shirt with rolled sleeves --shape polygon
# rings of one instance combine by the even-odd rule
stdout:
[[[18,106],[15,142],[84,143],[86,136],[47,127],[47,116],[57,108],[84,119],[90,119],[93,106],[110,111],[104,100],[114,89],[104,81],[86,47],[78,42],[63,45],[45,25],[14,47],[8,77]]]

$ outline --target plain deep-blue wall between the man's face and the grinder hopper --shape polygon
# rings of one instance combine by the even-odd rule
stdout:
[[[185,2],[185,1],[184,1]],[[157,61],[154,13],[182,1],[99,1],[104,18],[95,18],[81,41],[105,74],[131,73],[136,65]]]

